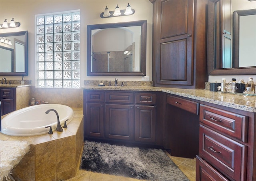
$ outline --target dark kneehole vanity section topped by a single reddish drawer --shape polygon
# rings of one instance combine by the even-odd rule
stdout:
[[[198,155],[199,103],[191,99],[167,95],[164,147],[177,157]]]

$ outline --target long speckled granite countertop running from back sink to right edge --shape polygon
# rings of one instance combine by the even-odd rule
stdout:
[[[161,88],[152,86],[82,86],[84,90],[124,90],[124,91],[162,91],[182,97],[232,107],[249,112],[256,112],[256,96],[218,93],[206,89]]]

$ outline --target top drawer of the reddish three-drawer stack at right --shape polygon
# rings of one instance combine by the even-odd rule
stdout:
[[[221,133],[247,142],[248,117],[207,105],[200,105],[200,121]]]

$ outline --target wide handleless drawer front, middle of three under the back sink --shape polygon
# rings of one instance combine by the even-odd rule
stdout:
[[[134,93],[130,92],[106,92],[106,102],[134,103]]]

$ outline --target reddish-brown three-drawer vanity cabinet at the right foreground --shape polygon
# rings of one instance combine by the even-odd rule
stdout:
[[[197,181],[256,179],[254,121],[252,112],[200,105]]]

